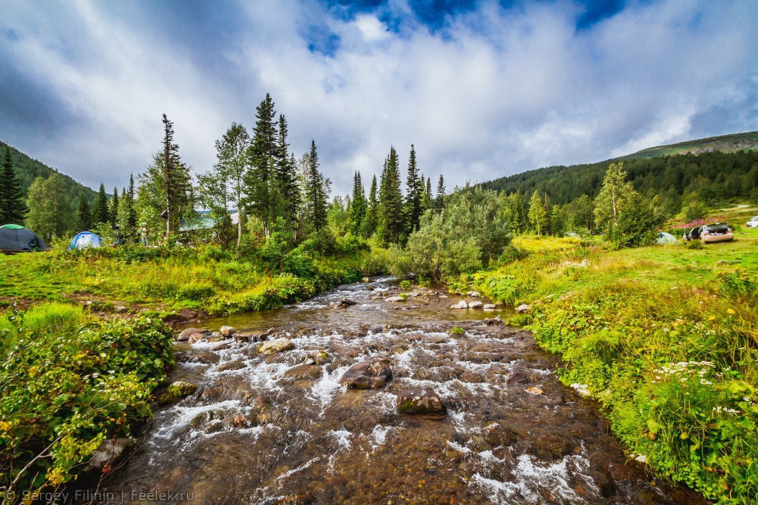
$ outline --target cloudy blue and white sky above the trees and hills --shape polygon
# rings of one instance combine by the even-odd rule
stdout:
[[[110,190],[161,114],[201,174],[270,93],[333,195],[412,144],[451,190],[758,130],[756,27],[754,0],[3,0],[0,140]]]

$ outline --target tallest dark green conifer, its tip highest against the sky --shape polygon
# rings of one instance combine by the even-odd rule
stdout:
[[[255,109],[255,129],[252,133],[248,160],[250,170],[245,177],[247,207],[255,218],[261,221],[266,237],[274,224],[277,202],[277,188],[274,184],[274,170],[277,161],[277,125],[274,122],[274,101],[266,93]]]

